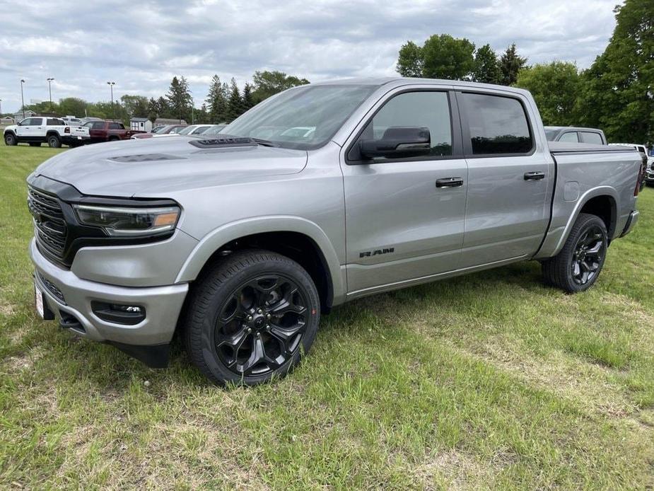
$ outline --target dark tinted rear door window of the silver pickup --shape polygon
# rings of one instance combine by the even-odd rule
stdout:
[[[462,93],[474,155],[527,154],[534,142],[518,99]]]

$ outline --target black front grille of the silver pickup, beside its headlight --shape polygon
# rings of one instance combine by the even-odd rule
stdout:
[[[66,221],[57,198],[28,190],[28,207],[34,219],[34,236],[41,253],[61,262],[66,248]]]

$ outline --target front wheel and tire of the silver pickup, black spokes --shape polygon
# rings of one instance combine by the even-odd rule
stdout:
[[[194,286],[185,344],[209,380],[253,386],[293,369],[313,345],[319,322],[315,284],[297,262],[242,250]]]

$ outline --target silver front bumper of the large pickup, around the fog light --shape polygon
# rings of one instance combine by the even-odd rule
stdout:
[[[187,283],[164,287],[117,287],[90,282],[49,262],[37,249],[34,239],[30,242],[30,257],[36,270],[35,282],[49,310],[64,325],[66,322],[62,320],[74,317],[81,326],[71,329],[77,335],[98,342],[144,347],[168,344],[173,338],[188,292]],[[47,285],[46,281],[50,284]],[[144,306],[146,318],[136,325],[107,322],[95,316],[91,301]]]

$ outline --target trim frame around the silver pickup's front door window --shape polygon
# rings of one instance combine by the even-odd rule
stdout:
[[[367,160],[355,160],[353,158],[350,158],[350,152],[352,149],[354,149],[354,146],[358,143],[358,139],[361,137],[361,134],[366,130],[370,122],[374,119],[374,117],[377,115],[380,110],[385,108],[387,103],[389,103],[391,100],[396,98],[397,96],[401,96],[402,94],[405,93],[414,93],[414,92],[443,92],[448,98],[448,108],[450,110],[450,132],[452,134],[452,154],[451,155],[443,155],[443,156],[416,156],[416,157],[399,157],[399,158],[389,158],[385,161],[374,161],[373,159],[367,159]],[[385,94],[387,96],[387,94]],[[462,146],[462,141],[461,141],[461,122],[460,122],[460,117],[459,117],[459,108],[457,106],[457,100],[455,96],[453,95],[453,91],[451,88],[447,87],[434,87],[434,88],[426,88],[426,87],[421,87],[421,88],[416,88],[416,87],[407,87],[403,88],[400,91],[393,92],[390,96],[388,96],[386,99],[380,99],[377,101],[376,104],[379,104],[379,107],[375,109],[375,111],[370,114],[366,115],[366,117],[359,122],[361,127],[358,129],[356,132],[354,138],[351,140],[350,144],[347,146],[344,154],[344,160],[346,165],[348,166],[361,166],[361,165],[378,165],[378,164],[384,164],[384,163],[402,163],[402,162],[424,162],[424,161],[442,161],[442,160],[456,160],[456,159],[461,159],[464,158],[463,155],[463,146]],[[459,129],[459,131],[457,131]]]

